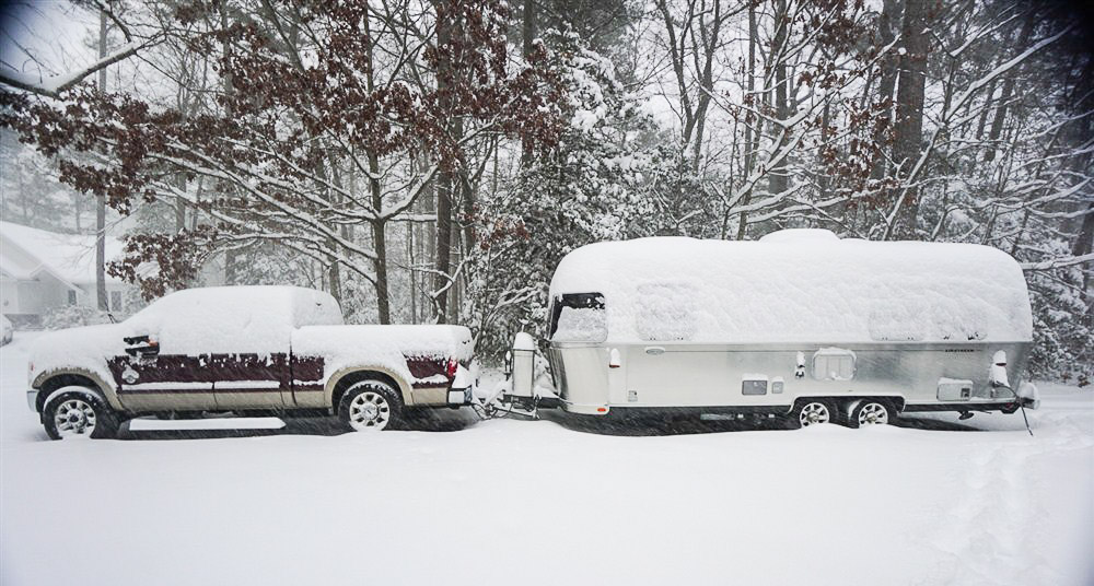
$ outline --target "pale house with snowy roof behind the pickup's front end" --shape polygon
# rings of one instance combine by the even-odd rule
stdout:
[[[106,260],[120,255],[121,243],[107,237]],[[125,312],[129,289],[106,277],[112,312]],[[0,310],[16,327],[40,326],[43,317],[58,307],[96,304],[94,235],[0,222]]]

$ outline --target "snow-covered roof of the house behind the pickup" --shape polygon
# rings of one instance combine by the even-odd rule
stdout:
[[[106,237],[106,260],[121,256],[121,243]],[[35,279],[46,272],[70,285],[95,282],[95,236],[60,234],[0,222],[0,270],[14,279]],[[108,283],[121,281],[107,276]]]

